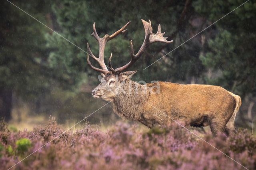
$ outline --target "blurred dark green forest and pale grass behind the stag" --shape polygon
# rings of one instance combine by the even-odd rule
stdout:
[[[246,2],[178,47],[245,1],[11,0],[81,49],[87,51],[89,42],[96,56],[93,23],[103,37],[131,21],[128,32],[106,45],[105,62],[112,52],[114,68],[130,61],[130,40],[135,52],[142,45],[145,33],[141,19],[151,20],[154,33],[161,24],[162,32],[173,43],[150,45],[129,69],[140,69],[132,79],[222,86],[242,98],[236,127],[252,130],[256,122],[256,1]],[[70,127],[106,104],[91,96],[100,83],[99,73],[88,67],[84,51],[28,14],[6,0],[1,2],[0,117],[19,130],[45,124],[49,115]],[[108,104],[87,121],[104,127],[118,119]]]

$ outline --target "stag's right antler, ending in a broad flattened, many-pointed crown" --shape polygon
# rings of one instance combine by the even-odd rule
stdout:
[[[110,56],[110,59],[109,59],[109,65],[111,67],[111,71],[113,74],[119,74],[121,73],[122,71],[128,69],[129,67],[131,67],[135,61],[137,61],[137,59],[140,58],[140,56],[142,55],[143,51],[145,51],[145,49],[147,49],[147,47],[154,43],[154,42],[163,42],[163,43],[171,43],[171,41],[168,41],[166,40],[167,37],[164,37],[164,33],[161,33],[161,26],[160,24],[158,25],[158,30],[157,30],[157,33],[154,34],[152,32],[152,27],[151,27],[151,22],[150,20],[148,20],[149,22],[146,22],[144,20],[142,20],[142,23],[143,23],[143,26],[145,28],[145,39],[144,39],[144,42],[142,43],[142,46],[140,47],[140,50],[138,51],[138,53],[136,53],[136,55],[134,55],[134,49],[133,49],[133,45],[132,45],[132,40],[130,41],[131,43],[131,60],[129,61],[129,63],[127,63],[126,65],[122,66],[122,67],[119,67],[117,69],[113,69],[111,67],[111,57],[112,55]]]

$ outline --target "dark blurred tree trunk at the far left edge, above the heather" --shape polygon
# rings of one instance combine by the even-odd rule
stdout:
[[[0,88],[0,117],[10,121],[12,109],[12,89]]]

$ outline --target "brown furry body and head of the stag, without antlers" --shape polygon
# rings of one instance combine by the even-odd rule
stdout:
[[[234,119],[241,99],[222,87],[161,81],[140,85],[130,80],[127,73],[121,73],[118,80],[110,73],[104,77],[106,84],[101,83],[94,91],[109,94],[109,89],[104,87],[113,79],[118,83],[112,85],[112,95],[107,99],[104,95],[104,98],[99,98],[111,101],[114,112],[124,119],[139,121],[149,128],[164,126],[172,119],[184,119],[194,127],[210,125],[214,136],[218,132],[228,134],[234,130]],[[156,93],[157,85],[159,93]]]

